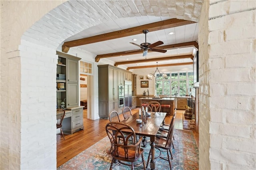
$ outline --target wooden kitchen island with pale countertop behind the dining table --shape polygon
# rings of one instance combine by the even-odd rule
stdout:
[[[177,98],[170,97],[142,97],[140,98],[140,104],[149,103],[151,101],[157,101],[160,105],[171,105],[170,115],[173,115],[174,108],[176,108]]]

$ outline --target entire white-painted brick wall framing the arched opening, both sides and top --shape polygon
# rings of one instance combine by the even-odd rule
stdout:
[[[255,169],[255,3],[204,1],[201,11],[200,0],[1,1],[0,169],[56,169],[61,43],[108,20],[146,15],[200,17],[200,169]]]

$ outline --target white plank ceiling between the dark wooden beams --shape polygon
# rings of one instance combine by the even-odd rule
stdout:
[[[134,17],[134,18],[121,18],[113,21],[109,21],[106,23],[99,24],[97,26],[93,26],[88,28],[79,34],[76,34],[70,38],[68,38],[65,42],[78,40],[81,38],[87,38],[91,36],[96,36],[99,34],[104,34],[108,32],[114,32],[118,30],[123,30],[127,28],[132,28],[136,26],[141,26],[144,24],[150,24],[153,22],[158,22],[162,20],[171,19],[169,17],[155,17],[155,16],[142,16],[142,17]],[[174,34],[169,35],[169,32],[174,32]],[[137,41],[132,41],[132,39],[137,39]],[[163,45],[170,45],[176,43],[184,43],[184,42],[193,42],[198,40],[198,23],[189,24],[185,26],[179,26],[175,28],[169,28],[165,30],[159,30],[155,32],[148,32],[146,34],[146,42],[154,43],[157,41],[164,42]],[[145,34],[138,34],[134,36],[128,36],[124,38],[118,38],[114,40],[107,40],[103,42],[97,43],[90,43],[86,45],[80,45],[78,48],[89,51],[90,53],[99,55],[99,54],[106,54],[106,53],[115,53],[121,51],[129,51],[139,49],[140,47],[133,45],[129,42],[134,42],[136,44],[141,44],[145,42]],[[146,59],[151,58],[160,58],[160,57],[167,57],[167,56],[177,56],[177,55],[194,55],[194,47],[184,47],[184,48],[177,48],[177,49],[169,49],[166,53],[160,52],[150,52],[146,56]],[[142,56],[143,51],[141,54],[134,54],[134,55],[125,55],[119,57],[109,57],[109,59],[114,62],[122,62],[122,61],[133,61],[133,60],[140,60],[145,59]],[[145,60],[146,61],[146,60]],[[192,62],[191,59],[173,59],[168,61],[158,61],[158,65],[161,64],[168,64],[168,63],[185,63],[185,62]],[[138,63],[139,66],[144,65],[156,65],[156,62],[145,62],[145,63]],[[138,66],[137,63],[133,64],[126,64],[126,67],[136,67]],[[174,70],[184,69],[188,67],[189,69],[193,69],[192,65],[184,65],[184,66],[172,66],[177,67]]]

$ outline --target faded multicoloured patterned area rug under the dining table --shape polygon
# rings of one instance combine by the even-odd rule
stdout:
[[[198,147],[194,139],[193,132],[191,130],[175,129],[174,131],[174,149],[172,149],[173,160],[172,170],[198,170]],[[68,160],[68,162],[59,166],[57,170],[108,170],[112,157],[107,151],[110,149],[110,140],[108,136],[90,146],[86,150],[74,158]],[[148,143],[144,149],[144,158],[147,162],[148,153],[150,150],[150,144]],[[166,152],[164,152],[166,154]],[[156,150],[155,156],[158,155]],[[167,154],[166,154],[167,157]],[[140,161],[141,159],[139,159]],[[116,166],[115,170],[130,170],[130,166]],[[136,167],[135,169],[143,169],[143,165]],[[150,169],[150,165],[148,168]],[[169,170],[170,166],[168,161],[163,159],[156,159],[156,170]]]

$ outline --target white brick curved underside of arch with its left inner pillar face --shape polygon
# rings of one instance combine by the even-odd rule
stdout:
[[[29,3],[26,2],[26,4]],[[54,3],[52,2],[53,6],[56,6]],[[40,19],[26,30],[20,39],[19,55],[22,75],[20,79],[21,111],[18,115],[20,165],[10,162],[13,167],[56,168],[56,95],[54,95],[56,85],[53,80],[56,77],[56,50],[61,51],[60,46],[66,38],[115,18],[170,16],[198,22],[202,1],[158,3],[154,1],[122,1],[122,3],[67,1],[42,18],[38,16]],[[33,3],[33,8],[46,7]],[[26,20],[27,18],[22,19],[24,22]],[[76,52],[70,50],[69,54],[73,53]],[[6,124],[6,127],[11,125]]]

